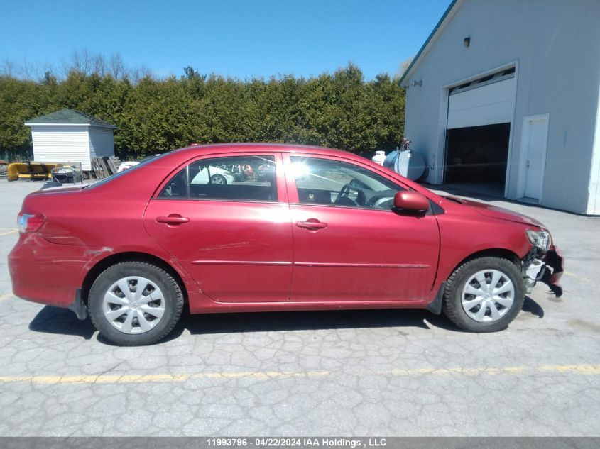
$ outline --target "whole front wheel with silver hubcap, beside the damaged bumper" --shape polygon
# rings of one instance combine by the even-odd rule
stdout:
[[[479,257],[465,262],[449,277],[442,309],[459,328],[494,332],[508,327],[524,300],[523,276],[513,262]]]

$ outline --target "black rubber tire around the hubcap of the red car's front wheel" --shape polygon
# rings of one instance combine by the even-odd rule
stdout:
[[[471,318],[462,306],[462,293],[471,276],[483,270],[497,270],[511,280],[514,287],[513,304],[497,321],[480,322]],[[472,296],[471,296],[472,297]],[[523,307],[525,301],[525,284],[523,275],[513,262],[502,257],[479,257],[464,262],[449,277],[444,290],[442,310],[454,324],[469,332],[496,332],[506,329]],[[481,309],[481,306],[479,306]],[[488,309],[486,314],[491,313]]]

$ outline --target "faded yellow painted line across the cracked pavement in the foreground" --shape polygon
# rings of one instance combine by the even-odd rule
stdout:
[[[543,365],[540,367],[479,367],[479,368],[416,368],[356,372],[356,375],[518,375],[523,372],[553,372],[577,375],[600,375],[600,365]],[[187,382],[190,379],[285,379],[290,377],[322,378],[334,375],[329,371],[279,372],[203,372],[197,374],[148,375],[65,375],[65,376],[0,376],[1,383],[32,384],[138,384],[146,382]]]

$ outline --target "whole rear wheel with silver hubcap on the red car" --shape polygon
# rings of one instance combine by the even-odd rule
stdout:
[[[105,338],[119,345],[150,345],[178,323],[183,294],[162,268],[146,262],[121,262],[94,281],[88,309]]]

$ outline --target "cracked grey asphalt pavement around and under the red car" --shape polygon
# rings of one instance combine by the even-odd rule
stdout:
[[[491,201],[567,258],[564,296],[535,287],[506,331],[427,311],[222,314],[119,348],[11,294],[16,215],[39,187],[0,180],[0,436],[600,435],[600,218]]]

